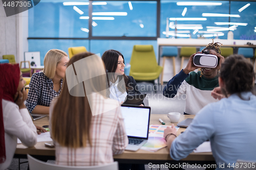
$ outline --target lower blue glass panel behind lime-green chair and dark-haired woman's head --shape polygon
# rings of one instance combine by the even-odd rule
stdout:
[[[122,53],[125,64],[130,63],[133,46],[137,44],[150,44],[154,46],[155,54],[157,53],[156,40],[91,40],[91,52],[102,54],[106,50],[117,50]]]

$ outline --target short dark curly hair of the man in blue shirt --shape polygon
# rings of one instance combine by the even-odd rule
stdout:
[[[228,94],[241,92],[253,92],[254,71],[253,65],[242,55],[231,55],[221,65],[220,77],[226,85],[225,91]]]

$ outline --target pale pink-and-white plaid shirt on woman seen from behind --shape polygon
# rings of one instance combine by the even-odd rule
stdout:
[[[121,154],[128,144],[120,106],[117,101],[104,99],[101,95],[93,94],[92,112],[102,113],[92,116],[91,140],[86,148],[61,147],[55,141],[56,164],[69,166],[94,166],[113,162],[113,155]],[[51,129],[51,115],[57,99],[50,107],[49,125]],[[111,108],[115,109],[111,109]],[[108,111],[109,110],[109,111]]]

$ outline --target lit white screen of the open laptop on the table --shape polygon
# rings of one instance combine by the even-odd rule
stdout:
[[[150,107],[122,106],[121,112],[127,136],[147,138]]]

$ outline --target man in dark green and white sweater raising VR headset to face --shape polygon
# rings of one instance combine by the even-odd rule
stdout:
[[[184,114],[197,114],[204,106],[209,103],[217,102],[210,93],[218,83],[218,70],[224,57],[221,56],[219,42],[209,43],[202,52],[196,54],[211,54],[218,57],[218,65],[215,68],[199,67],[193,63],[196,54],[190,56],[187,66],[179,74],[174,76],[163,89],[163,95],[167,98],[176,98],[185,95]],[[198,72],[194,70],[198,68]],[[189,73],[190,72],[190,73]],[[182,96],[182,99],[184,97]]]

